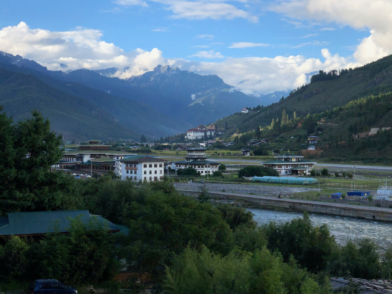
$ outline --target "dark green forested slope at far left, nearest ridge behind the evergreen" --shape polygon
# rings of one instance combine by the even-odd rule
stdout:
[[[38,78],[0,68],[0,105],[18,122],[38,109],[49,118],[53,131],[65,140],[138,138],[131,129],[116,122],[113,115],[94,104],[55,89]]]

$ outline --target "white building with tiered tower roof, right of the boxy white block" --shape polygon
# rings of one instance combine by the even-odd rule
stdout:
[[[202,176],[218,171],[220,163],[207,160],[207,155],[205,154],[206,150],[206,148],[189,148],[185,160],[173,162],[172,169],[177,171],[178,169],[193,167],[196,171],[200,172]]]

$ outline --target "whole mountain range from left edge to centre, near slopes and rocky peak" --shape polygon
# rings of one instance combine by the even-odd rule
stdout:
[[[15,120],[37,108],[66,140],[178,134],[261,104],[216,75],[158,65],[121,80],[111,77],[115,70],[49,71],[33,60],[0,52],[0,103]]]

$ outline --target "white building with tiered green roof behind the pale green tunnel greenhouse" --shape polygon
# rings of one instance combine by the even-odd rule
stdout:
[[[272,169],[276,169],[279,175],[301,175],[310,174],[310,171],[313,169],[313,165],[317,162],[304,160],[303,156],[295,155],[291,153],[286,153],[283,155],[274,156],[276,160],[269,160],[263,162],[265,167],[270,167]]]

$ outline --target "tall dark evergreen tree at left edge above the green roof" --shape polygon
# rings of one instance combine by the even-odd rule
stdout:
[[[0,111],[4,110],[3,107]],[[34,110],[33,118],[13,125],[0,114],[0,215],[61,208],[70,179],[51,166],[62,155],[62,137]]]

